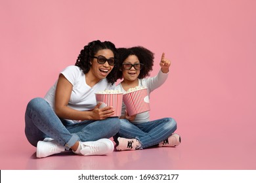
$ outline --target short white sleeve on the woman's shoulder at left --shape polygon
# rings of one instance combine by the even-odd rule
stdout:
[[[64,75],[65,78],[74,86],[75,80],[77,80],[81,74],[81,70],[75,65],[70,65],[66,67],[60,74]]]

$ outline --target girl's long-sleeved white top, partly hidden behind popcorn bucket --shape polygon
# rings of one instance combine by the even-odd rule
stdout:
[[[148,97],[150,97],[150,93],[153,92],[156,88],[160,87],[165,80],[167,80],[169,73],[162,73],[161,70],[158,72],[158,75],[150,78],[143,78],[139,79],[139,86],[148,88]],[[120,90],[121,92],[125,92],[123,87],[121,86],[121,83],[116,86],[116,90]],[[125,115],[125,104],[122,105],[122,112],[121,115]],[[135,124],[140,124],[144,122],[150,122],[150,111],[142,112],[140,114],[136,115],[136,118],[134,121],[132,121]]]

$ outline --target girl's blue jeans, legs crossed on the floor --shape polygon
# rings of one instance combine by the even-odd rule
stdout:
[[[119,133],[114,137],[137,139],[142,145],[140,148],[147,148],[159,144],[167,139],[177,129],[177,123],[173,118],[162,118],[141,124],[132,124],[128,120],[121,120]]]

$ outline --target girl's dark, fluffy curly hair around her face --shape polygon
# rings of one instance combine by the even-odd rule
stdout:
[[[150,50],[142,47],[142,46],[134,46],[131,48],[117,48],[118,52],[118,71],[117,71],[117,79],[123,78],[123,61],[127,59],[129,56],[137,56],[140,63],[144,64],[144,67],[140,70],[139,79],[145,78],[150,75],[150,71],[152,71],[152,67],[154,65],[154,53]]]

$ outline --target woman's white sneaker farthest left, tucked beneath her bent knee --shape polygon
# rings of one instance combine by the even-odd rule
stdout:
[[[43,141],[37,142],[37,158],[45,158],[64,151],[65,147],[57,144],[54,139],[45,138]]]

